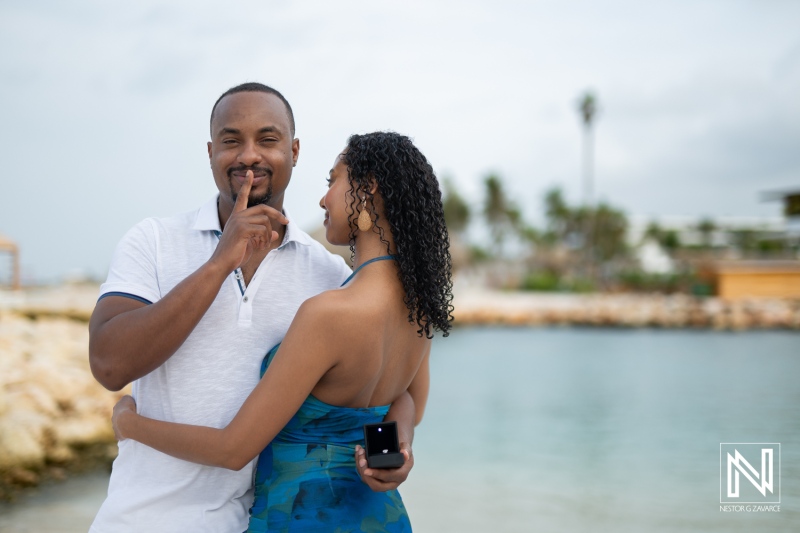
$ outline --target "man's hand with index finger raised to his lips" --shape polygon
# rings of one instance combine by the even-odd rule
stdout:
[[[225,223],[219,245],[209,260],[222,266],[226,272],[233,272],[247,263],[254,251],[269,249],[272,241],[278,238],[278,232],[272,229],[273,223],[289,223],[283,213],[273,207],[247,207],[252,185],[253,171],[248,170],[246,181],[236,197],[233,212]]]

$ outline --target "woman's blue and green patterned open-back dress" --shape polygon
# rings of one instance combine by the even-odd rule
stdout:
[[[264,358],[262,376],[278,346]],[[373,492],[356,470],[363,425],[383,421],[388,410],[337,407],[309,395],[258,457],[247,531],[411,531],[400,494]]]

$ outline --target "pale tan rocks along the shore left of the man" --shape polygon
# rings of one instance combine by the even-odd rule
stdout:
[[[67,292],[79,301],[0,300],[0,500],[116,457],[109,422],[123,393],[105,390],[89,370],[96,287]]]

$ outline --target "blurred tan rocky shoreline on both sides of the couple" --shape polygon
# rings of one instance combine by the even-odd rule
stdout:
[[[110,413],[128,392],[92,377],[88,321],[97,285],[0,291],[0,501],[76,472],[109,468]],[[543,294],[462,287],[456,326],[800,330],[800,300]]]

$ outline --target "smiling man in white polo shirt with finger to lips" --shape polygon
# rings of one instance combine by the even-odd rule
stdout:
[[[144,220],[118,245],[89,325],[89,357],[106,388],[133,382],[140,413],[224,427],[300,304],[350,273],[283,211],[299,153],[291,106],[278,91],[256,83],[226,91],[208,143],[219,194],[196,211]],[[235,209],[246,182],[247,208]],[[406,442],[414,418],[410,400],[387,415]],[[407,452],[391,472],[364,470],[359,458],[362,479],[373,490],[396,487],[413,465]],[[122,441],[90,531],[243,531],[254,467],[205,467]]]

